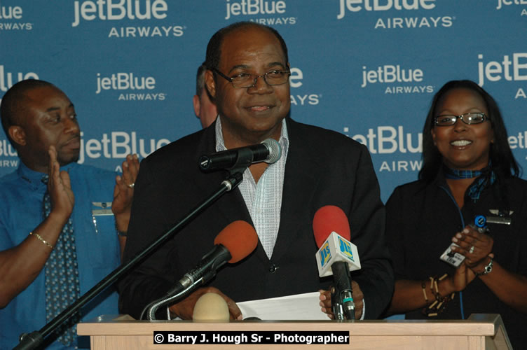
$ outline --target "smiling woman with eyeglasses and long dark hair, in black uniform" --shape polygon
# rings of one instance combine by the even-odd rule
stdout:
[[[388,314],[501,314],[513,346],[527,344],[527,181],[518,176],[494,99],[470,80],[446,83],[425,121],[419,180],[386,204],[396,278]]]

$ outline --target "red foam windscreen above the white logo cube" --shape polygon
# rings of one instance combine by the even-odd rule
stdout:
[[[336,232],[348,241],[351,238],[350,222],[344,211],[334,205],[326,205],[317,210],[313,217],[313,233],[320,248],[331,232]]]

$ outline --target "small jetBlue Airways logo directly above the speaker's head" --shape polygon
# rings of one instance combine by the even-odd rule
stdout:
[[[285,0],[226,0],[226,16],[229,20],[236,16],[253,16],[249,20],[262,25],[294,25],[296,18],[285,15]],[[257,18],[254,18],[257,16]]]

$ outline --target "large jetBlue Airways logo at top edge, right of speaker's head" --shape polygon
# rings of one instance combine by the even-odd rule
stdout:
[[[339,13],[336,18],[337,20],[343,19],[347,11],[351,13],[362,10],[409,13],[413,10],[433,10],[435,6],[435,0],[340,0]],[[378,18],[374,29],[451,27],[454,19],[451,16]]]

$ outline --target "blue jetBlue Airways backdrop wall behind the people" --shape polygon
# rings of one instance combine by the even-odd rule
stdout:
[[[41,78],[76,106],[81,160],[116,169],[200,128],[207,42],[231,22],[280,31],[292,118],[366,144],[383,200],[420,169],[434,92],[468,78],[500,104],[527,169],[527,0],[0,0],[0,97]],[[0,176],[18,158],[0,135]]]

